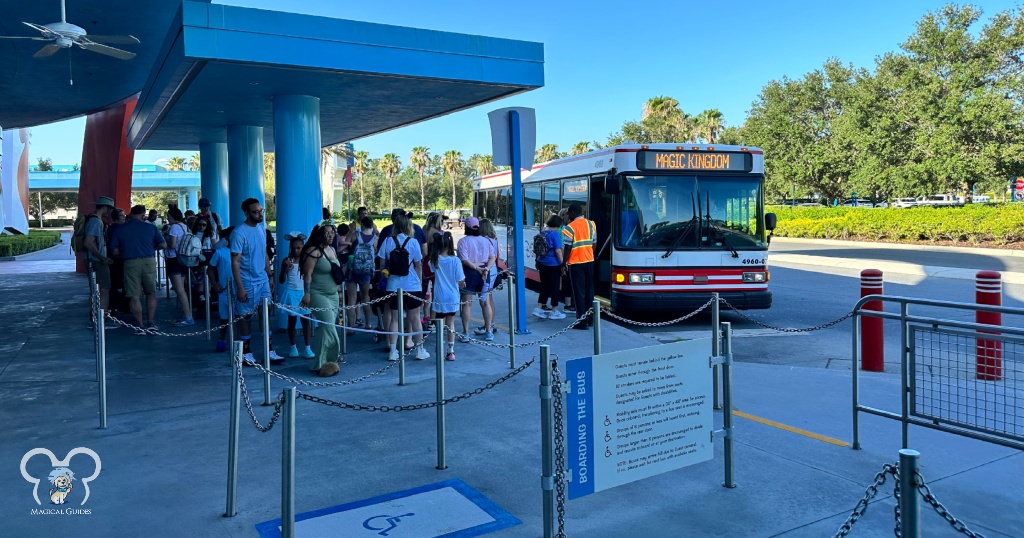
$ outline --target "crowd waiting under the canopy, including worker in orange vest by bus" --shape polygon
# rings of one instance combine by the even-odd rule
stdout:
[[[505,275],[500,273],[504,261],[498,237],[486,218],[467,217],[465,237],[456,244],[452,233],[444,230],[441,213],[428,214],[420,226],[413,222],[411,212],[395,208],[391,223],[378,230],[365,207],[358,208],[356,218],[349,223],[334,222],[325,209],[324,219],[308,234],[296,231],[286,236],[287,255],[274,282],[273,236],[266,230],[264,209],[255,198],[245,200],[239,208],[245,221],[227,227],[205,198],[199,202],[199,213],[169,207],[166,221],[156,209],[147,211],[141,205],[125,215],[109,197],[100,197],[95,205],[82,234],[86,259],[95,274],[99,306],[130,313],[137,335],[158,330],[157,253],[162,251],[180,311],[173,325],[196,323],[194,284],[201,286],[206,273],[220,320],[228,322],[233,315],[234,335],[243,344],[244,364],[249,366],[256,362],[251,348],[252,318],[263,299],[272,299],[287,317],[288,358],[310,360],[310,369],[325,377],[337,374],[339,365],[345,363],[338,323],[346,303],[358,306],[350,311],[351,322],[343,330],[371,330],[375,342],[383,334],[389,361],[399,359],[399,345],[406,357],[429,359],[423,332],[434,323],[449,329],[444,359],[455,361],[457,316],[462,321],[461,342],[469,342],[471,333],[485,341],[495,338],[492,292]],[[573,309],[571,305],[589,305],[594,296],[594,222],[585,218],[582,207],[574,203],[561,214],[551,215],[546,224],[542,231],[544,252],[537,257],[541,294],[532,314],[564,319],[558,309],[564,303],[564,309],[575,312],[579,320],[587,308]],[[199,262],[184,254],[194,241],[201,245]],[[393,293],[398,290],[402,291],[401,304]],[[125,307],[121,307],[122,301]],[[473,302],[479,304],[483,319],[483,325],[475,328],[470,326]],[[590,324],[583,321],[574,328],[586,330]],[[301,354],[297,343],[300,327]],[[398,341],[399,334],[404,335],[403,341]],[[216,350],[226,349],[225,337],[226,328],[220,332]],[[286,358],[271,345],[268,360],[281,364]]]

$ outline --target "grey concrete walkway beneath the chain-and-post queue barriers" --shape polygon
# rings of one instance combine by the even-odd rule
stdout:
[[[10,262],[20,264],[24,262]],[[4,535],[18,537],[256,536],[255,525],[281,516],[280,425],[259,432],[243,407],[238,514],[222,518],[227,474],[230,369],[225,354],[213,353],[203,337],[137,337],[125,329],[108,335],[109,428],[97,429],[97,383],[92,333],[85,329],[87,286],[69,273],[14,275],[0,279],[0,515]],[[535,295],[528,293],[527,304]],[[496,295],[499,325],[507,324],[506,294]],[[172,301],[161,298],[165,318]],[[478,317],[474,306],[474,317]],[[543,339],[571,321],[531,320]],[[164,324],[169,326],[169,324]],[[457,324],[458,328],[458,324]],[[605,351],[657,342],[618,325],[603,323]],[[287,348],[284,334],[275,347]],[[508,332],[495,343],[507,343]],[[433,355],[432,338],[428,349]],[[341,374],[321,379],[306,362],[289,360],[281,372],[307,381],[343,381],[387,365],[383,344],[367,335],[350,337]],[[567,331],[550,341],[559,364],[588,356],[589,331]],[[736,345],[756,345],[757,339]],[[837,342],[847,349],[849,342]],[[468,394],[510,372],[507,349],[457,344],[459,359],[444,364],[446,395]],[[795,351],[799,354],[799,351]],[[257,354],[259,355],[259,354]],[[536,346],[517,351],[517,365],[538,357]],[[256,418],[265,423],[262,376],[245,371]],[[301,390],[337,402],[406,406],[434,399],[434,362],[407,363],[407,385],[396,368],[369,379]],[[495,536],[536,537],[543,533],[539,368],[482,390],[447,409],[447,465],[436,470],[432,409],[370,412],[300,401],[297,406],[296,511],[316,510],[391,492],[461,479],[521,525]],[[273,398],[285,386],[274,382]],[[723,454],[715,459],[621,486],[565,504],[565,530],[577,537],[830,536],[860,499],[883,463],[897,457],[899,425],[862,418],[863,450],[848,446],[850,374],[820,368],[756,364],[734,367],[737,410],[735,480],[721,487]],[[865,403],[898,409],[899,383],[892,374],[862,377]],[[722,417],[717,413],[717,423]],[[792,426],[783,429],[756,419]],[[801,434],[813,432],[818,439]],[[840,445],[823,442],[828,439]],[[48,448],[57,458],[87,447],[102,459],[88,502],[83,489],[70,507],[89,513],[46,515],[19,472],[23,456]],[[911,447],[922,452],[923,474],[936,497],[975,531],[986,536],[1024,536],[1024,457],[1016,451],[932,430],[912,429]],[[45,456],[36,459],[45,460]],[[73,463],[80,464],[78,460]],[[37,465],[38,466],[38,465]],[[33,467],[34,469],[36,467]],[[40,467],[45,481],[45,461]],[[38,469],[37,469],[38,470]],[[87,473],[87,472],[86,472]],[[77,485],[80,487],[80,485]],[[891,535],[891,483],[880,489],[852,536]],[[443,511],[443,507],[439,508]],[[923,535],[952,535],[948,525],[923,506]],[[340,536],[380,536],[376,532]],[[392,536],[402,536],[392,534]]]

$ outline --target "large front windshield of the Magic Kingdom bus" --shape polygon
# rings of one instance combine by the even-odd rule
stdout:
[[[767,248],[760,176],[626,176],[616,246]]]

